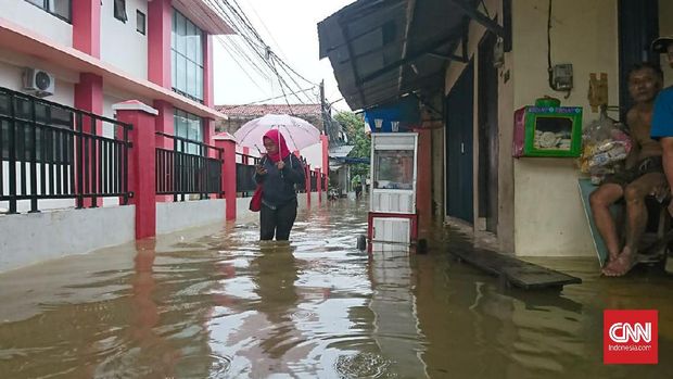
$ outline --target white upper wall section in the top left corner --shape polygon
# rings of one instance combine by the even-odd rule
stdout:
[[[1,0],[0,17],[41,34],[54,42],[73,47],[73,25],[25,0]]]

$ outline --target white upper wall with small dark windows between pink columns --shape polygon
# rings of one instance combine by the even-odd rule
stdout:
[[[137,16],[145,15],[145,35],[136,31]],[[148,37],[145,0],[127,0],[126,23],[114,17],[114,0],[102,0],[101,7],[101,60],[130,74],[135,78],[148,78]]]

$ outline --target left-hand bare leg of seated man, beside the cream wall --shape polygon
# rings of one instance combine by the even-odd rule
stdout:
[[[589,197],[594,222],[596,223],[596,228],[598,228],[600,237],[606,242],[608,253],[610,254],[610,262],[617,260],[620,253],[617,226],[610,214],[610,205],[618,201],[623,194],[624,191],[620,185],[605,184],[592,192]]]

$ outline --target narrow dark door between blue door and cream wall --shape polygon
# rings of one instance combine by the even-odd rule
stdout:
[[[497,37],[486,33],[479,43],[479,216],[486,230],[498,226],[498,73],[493,66]]]

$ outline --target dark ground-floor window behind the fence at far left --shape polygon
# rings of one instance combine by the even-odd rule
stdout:
[[[0,115],[9,117],[11,115],[10,97],[0,94]],[[73,136],[71,134],[58,132],[58,129],[45,127],[49,125],[56,128],[72,129],[74,125],[73,112],[40,102],[35,103],[35,121],[37,127],[33,125],[30,114],[31,101],[15,98],[13,104],[14,112],[14,149],[16,161],[30,161],[33,150],[36,150],[37,162],[40,163],[71,163],[73,162]],[[0,121],[0,147],[3,160],[10,157],[10,121]],[[35,140],[33,138],[35,130]]]

